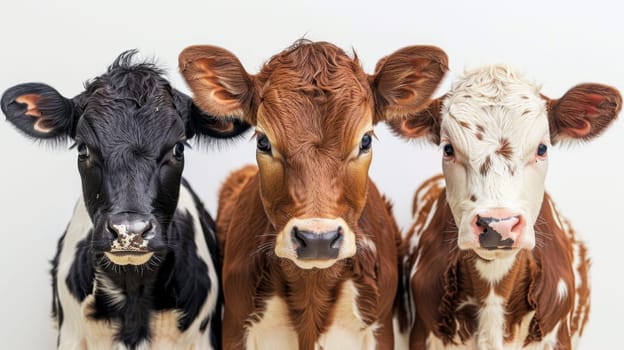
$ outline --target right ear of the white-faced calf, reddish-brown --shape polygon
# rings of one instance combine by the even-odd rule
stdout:
[[[622,109],[619,91],[606,85],[581,84],[558,100],[546,100],[550,138],[553,144],[564,140],[590,140],[599,136]]]

